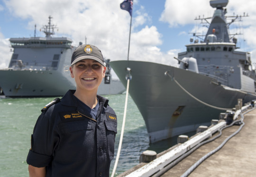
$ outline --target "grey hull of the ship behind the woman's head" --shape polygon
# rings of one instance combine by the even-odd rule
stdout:
[[[63,96],[69,89],[76,89],[69,72],[52,70],[0,70],[0,86],[7,97]],[[121,94],[125,91],[119,80],[110,84],[102,80],[98,94]]]

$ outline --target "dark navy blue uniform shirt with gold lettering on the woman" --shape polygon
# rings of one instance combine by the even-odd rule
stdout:
[[[37,119],[27,163],[46,167],[46,177],[109,177],[117,117],[108,100],[97,95],[96,120],[68,91]]]

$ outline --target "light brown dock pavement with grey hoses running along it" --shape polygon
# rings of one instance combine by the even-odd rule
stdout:
[[[244,123],[245,125],[237,135],[232,137],[218,152],[204,160],[188,177],[256,177],[256,110],[244,115]],[[238,125],[234,125],[224,129],[219,138],[202,145],[161,177],[180,177],[201,157],[216,149],[238,128]]]

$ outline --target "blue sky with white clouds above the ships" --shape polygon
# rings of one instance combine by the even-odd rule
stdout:
[[[45,37],[40,28],[58,27],[53,37],[69,37],[73,45],[90,43],[110,60],[128,58],[130,14],[120,8],[123,0],[0,0],[0,68],[12,55],[9,38]],[[227,15],[244,15],[230,25],[237,35],[239,51],[251,52],[256,62],[256,0],[229,0]],[[210,0],[134,0],[129,60],[177,65],[174,57],[186,51],[192,33],[206,34],[196,17],[212,17]],[[195,39],[195,37],[194,37]]]

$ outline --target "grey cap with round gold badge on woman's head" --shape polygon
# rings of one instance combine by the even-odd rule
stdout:
[[[78,46],[73,52],[73,55],[71,58],[71,65],[75,64],[76,62],[82,59],[94,59],[105,67],[101,50],[94,45],[83,44]]]

